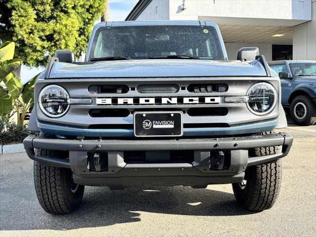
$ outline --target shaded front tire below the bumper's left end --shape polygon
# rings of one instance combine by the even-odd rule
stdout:
[[[62,158],[60,151],[38,149],[38,156]],[[74,210],[82,200],[84,186],[74,183],[70,169],[51,167],[34,161],[34,182],[41,207],[51,214]]]

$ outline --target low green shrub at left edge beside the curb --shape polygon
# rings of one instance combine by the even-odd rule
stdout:
[[[23,139],[30,135],[26,124],[16,124],[7,119],[0,119],[0,144],[22,143]]]

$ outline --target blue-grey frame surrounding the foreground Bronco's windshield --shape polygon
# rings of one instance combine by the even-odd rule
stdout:
[[[103,25],[103,26],[100,26],[100,27],[95,27],[93,29],[93,32],[92,32],[92,35],[90,37],[90,40],[89,40],[89,44],[88,44],[88,47],[87,47],[87,51],[86,51],[86,61],[91,61],[92,58],[96,59],[94,57],[94,47],[96,46],[96,40],[97,38],[99,37],[99,33],[101,31],[104,31],[106,29],[109,29],[111,30],[111,28],[120,28],[120,27],[170,27],[170,26],[178,26],[178,27],[201,27],[203,29],[203,27],[207,27],[207,28],[213,28],[212,29],[212,32],[213,32],[213,35],[211,37],[209,37],[209,39],[213,38],[213,39],[216,39],[216,54],[214,54],[214,56],[217,56],[215,57],[214,59],[212,59],[212,57],[204,57],[204,56],[201,56],[200,58],[197,57],[197,59],[204,59],[204,60],[210,60],[210,61],[227,61],[228,58],[227,58],[227,52],[226,52],[226,49],[225,49],[225,45],[224,45],[224,42],[223,42],[223,39],[222,39],[222,36],[220,34],[220,31],[219,31],[219,28],[218,26],[213,23],[213,22],[205,22],[205,25],[201,25],[201,24],[196,24],[196,22],[194,21],[191,21],[189,22],[190,24],[155,24],[155,25],[152,25],[150,24],[150,22],[141,22],[141,23],[148,23],[148,24],[144,24],[144,25],[127,25],[127,24],[122,24],[123,22],[114,22],[114,23],[120,23],[119,26],[114,26],[114,27],[108,27],[108,24],[106,25]],[[125,22],[124,22],[125,23]],[[136,23],[136,22],[135,22]],[[165,23],[165,22],[163,22]],[[168,22],[170,23],[170,21]],[[194,24],[193,24],[194,23]],[[99,23],[100,24],[100,23]],[[111,24],[112,25],[112,24]],[[152,56],[152,55],[151,55]],[[141,59],[141,60],[146,60],[146,59],[151,59],[150,57],[130,57],[130,59]],[[159,56],[159,55],[153,55],[153,56]],[[161,55],[162,56],[162,55]],[[174,56],[178,56],[178,55],[174,55]],[[186,55],[180,55],[180,56],[186,56]],[[192,56],[192,55],[188,55],[188,56]],[[212,56],[212,55],[211,55]],[[115,57],[129,57],[129,56],[126,56],[126,55],[115,55]],[[180,57],[179,57],[180,58]],[[183,58],[185,59],[185,58]],[[97,60],[95,60],[97,61]],[[101,60],[100,60],[101,61]]]

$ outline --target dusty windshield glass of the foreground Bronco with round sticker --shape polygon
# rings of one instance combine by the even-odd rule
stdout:
[[[102,27],[92,41],[89,60],[177,58],[176,55],[191,56],[187,59],[224,60],[216,30],[211,26]]]

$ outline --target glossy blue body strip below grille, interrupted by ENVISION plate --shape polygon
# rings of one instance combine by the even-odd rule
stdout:
[[[245,124],[233,127],[211,127],[211,128],[184,128],[184,136],[223,136],[246,133],[258,133],[263,130],[272,131],[277,125],[278,119],[260,123]],[[38,122],[40,131],[44,134],[56,134],[65,136],[87,136],[87,137],[133,137],[133,129],[87,129],[68,126],[58,126]]]

